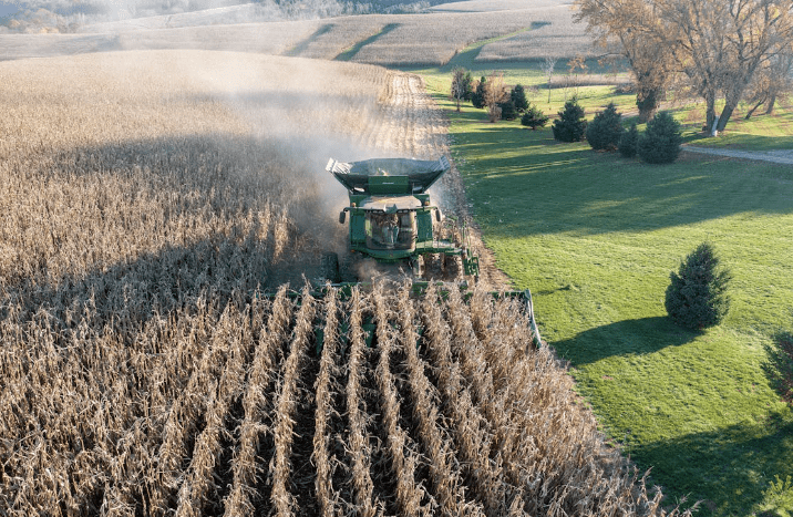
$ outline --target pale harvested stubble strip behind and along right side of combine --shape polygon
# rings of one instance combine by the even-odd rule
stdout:
[[[452,169],[431,193],[446,215],[467,221],[472,247],[480,257],[480,280],[492,289],[508,288],[508,277],[496,268],[495,257],[484,246],[480,228],[468,213],[465,188],[451,159],[449,122],[426,93],[423,80],[414,74],[391,73],[380,106],[379,121],[364,143],[394,156],[435,159],[444,155],[450,159]]]

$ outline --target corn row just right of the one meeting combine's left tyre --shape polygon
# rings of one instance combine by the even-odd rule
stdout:
[[[373,517],[377,503],[373,502],[374,485],[370,474],[371,451],[367,441],[367,422],[361,414],[361,378],[363,375],[364,348],[363,302],[358,289],[352,291],[350,307],[350,365],[347,381],[347,416],[349,420],[349,455],[352,463],[354,507],[361,517]]]

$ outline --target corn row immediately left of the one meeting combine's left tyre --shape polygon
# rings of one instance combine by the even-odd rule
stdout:
[[[300,365],[308,353],[309,340],[313,330],[315,300],[308,287],[302,292],[302,306],[297,314],[297,322],[292,332],[291,350],[284,363],[280,390],[276,399],[276,414],[272,426],[275,440],[275,454],[270,462],[270,478],[272,493],[270,499],[276,515],[287,517],[292,515],[297,506],[295,496],[289,492],[289,473],[291,464],[292,430],[295,427],[295,411],[298,402],[298,380]]]

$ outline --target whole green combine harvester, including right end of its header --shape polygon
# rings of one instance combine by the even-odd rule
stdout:
[[[342,163],[330,159],[326,170],[347,188],[350,204],[339,215],[344,224],[349,214],[348,254],[343,262],[337,254],[322,256],[325,286],[316,294],[322,297],[328,288],[339,289],[342,298],[357,286],[370,286],[374,278],[357,273],[357,265],[369,260],[390,280],[412,281],[412,291],[422,296],[434,282],[441,296],[451,289],[465,291],[470,281],[480,276],[480,260],[472,250],[465,225],[444,225],[441,209],[433,205],[428,190],[451,165],[445,156],[437,161],[408,158],[377,158]],[[451,218],[450,218],[451,219]],[[452,238],[447,238],[452,236]],[[454,239],[456,237],[456,239]],[[428,271],[428,257],[439,256],[440,271]],[[534,333],[534,345],[540,347],[539,330],[534,319],[532,292],[497,291],[494,297],[517,298],[525,302]]]

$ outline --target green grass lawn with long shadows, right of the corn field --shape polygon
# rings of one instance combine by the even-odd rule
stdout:
[[[571,362],[607,435],[652,468],[670,503],[758,513],[775,476],[793,475],[793,410],[761,368],[770,337],[793,329],[793,167],[694,154],[653,166],[558,144],[549,128],[490,124],[470,105],[456,113],[450,74],[423,74],[452,121],[485,242],[516,287],[532,289],[543,338]],[[589,118],[609,92],[581,89]],[[564,101],[554,93],[550,106],[535,99],[549,114]],[[751,148],[781,126],[730,137]],[[703,240],[732,271],[732,303],[721,325],[694,333],[670,322],[663,294]]]

